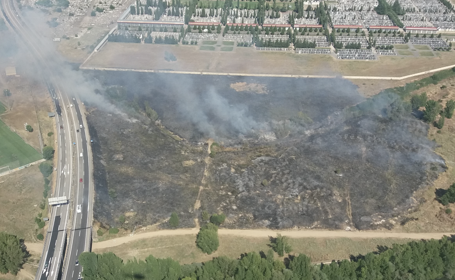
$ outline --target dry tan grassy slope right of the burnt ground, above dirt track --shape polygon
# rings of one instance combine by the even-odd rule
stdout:
[[[446,88],[441,89],[442,85],[445,85]],[[422,92],[426,92],[430,99],[440,100],[440,104],[444,108],[447,100],[455,100],[455,78],[447,79],[437,85],[426,86],[416,90],[415,94]],[[418,197],[423,197],[425,202],[409,216],[419,220],[410,221],[404,226],[398,225],[394,230],[407,232],[455,231],[455,205],[446,207],[435,200],[436,189],[447,189],[449,185],[455,182],[455,117],[445,119],[444,127],[440,130],[440,133],[437,133],[437,131],[437,128],[431,126],[428,137],[439,144],[436,152],[445,159],[448,170],[441,174],[430,188],[421,191],[420,194],[416,194]],[[452,209],[452,214],[445,214],[445,209],[447,208]]]

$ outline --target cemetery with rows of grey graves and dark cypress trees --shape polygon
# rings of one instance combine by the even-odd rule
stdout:
[[[436,33],[454,28],[451,4],[444,1],[339,0],[308,5],[295,0],[292,7],[265,0],[136,0],[121,15],[109,40],[182,45],[224,40],[254,50],[335,52],[339,59],[377,60],[376,54],[397,55],[394,45],[408,42],[451,50]]]

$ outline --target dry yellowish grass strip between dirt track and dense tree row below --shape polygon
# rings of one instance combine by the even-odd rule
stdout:
[[[365,254],[377,249],[378,245],[391,246],[394,243],[405,243],[405,239],[290,239],[293,247],[292,254],[304,253],[313,262],[339,260],[349,258],[349,255]],[[96,250],[96,253],[114,252],[123,260],[144,259],[148,255],[159,258],[171,257],[181,264],[198,263],[212,260],[213,257],[226,255],[238,258],[243,253],[269,250],[269,240],[266,238],[244,238],[220,235],[220,247],[212,255],[206,255],[195,245],[194,235],[165,236],[147,240],[138,240],[116,247]]]

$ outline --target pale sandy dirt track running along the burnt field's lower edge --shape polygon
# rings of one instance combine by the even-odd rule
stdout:
[[[146,233],[139,233],[133,236],[124,236],[116,239],[95,242],[92,250],[118,246],[130,241],[153,238],[157,236],[172,235],[197,235],[198,228],[180,230],[157,230]],[[390,232],[385,230],[372,231],[349,231],[349,230],[228,230],[219,229],[219,235],[237,235],[244,237],[268,237],[277,233],[291,238],[410,238],[410,239],[439,239],[443,235],[450,236],[454,233],[405,233]],[[115,241],[114,241],[115,240]]]

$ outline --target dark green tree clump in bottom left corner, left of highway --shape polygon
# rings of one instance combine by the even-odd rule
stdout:
[[[0,232],[0,272],[17,275],[29,253],[16,235]]]

